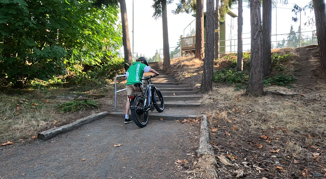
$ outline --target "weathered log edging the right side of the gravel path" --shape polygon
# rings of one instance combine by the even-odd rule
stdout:
[[[210,145],[210,137],[208,131],[207,116],[202,115],[200,120],[200,138],[199,149],[196,151],[198,157],[198,165],[204,169],[207,179],[217,179],[217,162],[213,152],[213,147]]]

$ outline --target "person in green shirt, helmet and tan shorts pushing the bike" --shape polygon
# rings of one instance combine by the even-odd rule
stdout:
[[[141,83],[141,78],[144,72],[152,72],[155,73],[155,76],[158,76],[159,73],[153,70],[150,66],[148,66],[147,60],[144,57],[140,57],[134,62],[129,69],[126,71],[126,88],[127,88],[127,95],[134,95],[137,93],[141,93],[139,87],[134,86],[136,83]],[[143,87],[141,86],[141,90]],[[129,119],[129,110],[130,110],[130,101],[127,98],[126,101],[126,116],[125,116],[125,123],[132,122]]]

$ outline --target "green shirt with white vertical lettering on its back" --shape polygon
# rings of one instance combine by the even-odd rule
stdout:
[[[127,70],[129,73],[127,85],[141,83],[141,78],[144,74],[145,67],[146,65],[140,61],[134,62]]]

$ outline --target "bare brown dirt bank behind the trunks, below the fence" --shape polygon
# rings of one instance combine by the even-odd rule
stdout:
[[[272,54],[285,55],[292,54],[289,62],[284,66],[290,73],[298,79],[297,86],[309,87],[325,83],[326,74],[319,68],[319,52],[317,45],[304,46],[299,48],[273,49]],[[244,53],[244,63],[250,62],[250,52]],[[236,59],[233,54],[222,54],[220,59],[215,61],[214,69],[224,69],[230,65],[230,59]],[[192,84],[196,89],[201,83],[203,61],[194,57],[181,57],[171,59],[171,69],[169,72],[174,75],[179,83]],[[245,68],[245,67],[244,67]]]

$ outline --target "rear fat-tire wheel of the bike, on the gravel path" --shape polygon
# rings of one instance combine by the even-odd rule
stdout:
[[[144,111],[143,109],[144,98],[137,96],[130,104],[134,106],[133,109],[131,109],[131,115],[135,124],[139,127],[145,127],[148,122],[148,111]],[[147,101],[145,106],[148,106]]]

